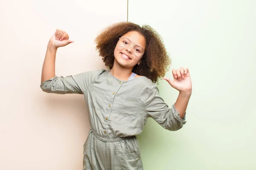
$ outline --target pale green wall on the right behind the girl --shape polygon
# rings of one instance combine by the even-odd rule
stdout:
[[[256,1],[129,0],[128,20],[162,35],[171,69],[188,67],[186,125],[148,119],[138,136],[145,170],[256,169]],[[172,78],[171,71],[167,77]],[[172,106],[178,92],[160,80]]]

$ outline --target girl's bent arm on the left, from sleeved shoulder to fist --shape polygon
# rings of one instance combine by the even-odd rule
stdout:
[[[55,75],[56,51],[59,47],[66,46],[71,42],[73,41],[69,40],[68,34],[59,29],[50,38],[41,76],[40,87],[44,92],[54,94],[83,94],[93,77],[100,73],[99,71],[87,71],[66,77],[57,77]]]

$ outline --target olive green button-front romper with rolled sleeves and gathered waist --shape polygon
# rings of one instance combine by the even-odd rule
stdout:
[[[143,170],[136,135],[148,117],[167,130],[185,123],[175,105],[159,96],[157,85],[142,76],[119,80],[104,69],[53,77],[40,85],[47,93],[84,94],[90,132],[84,143],[84,170]]]

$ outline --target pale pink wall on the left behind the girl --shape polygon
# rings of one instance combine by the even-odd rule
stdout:
[[[104,68],[94,38],[127,19],[126,0],[0,1],[0,169],[81,170],[89,122],[83,95],[44,93],[41,69],[57,28],[56,74]]]

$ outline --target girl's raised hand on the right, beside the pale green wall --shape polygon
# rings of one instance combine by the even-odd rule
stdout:
[[[172,70],[173,81],[166,77],[163,77],[173,88],[180,92],[190,92],[192,91],[192,83],[190,79],[189,69],[180,67],[180,69]]]

